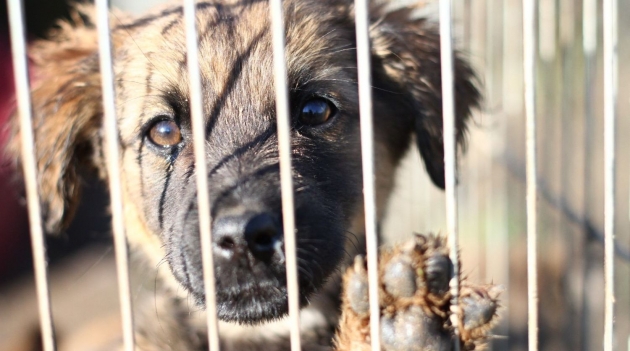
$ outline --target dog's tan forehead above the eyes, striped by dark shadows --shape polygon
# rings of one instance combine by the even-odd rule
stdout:
[[[231,118],[254,118],[274,106],[273,54],[266,1],[201,3],[197,8],[200,69],[206,110],[218,99]],[[289,84],[339,79],[354,65],[353,34],[338,13],[318,2],[285,4]],[[166,114],[165,97],[188,99],[186,33],[181,7],[166,8],[119,26],[119,113],[144,122]],[[348,49],[348,50],[347,50]],[[127,119],[122,130],[138,130]],[[135,124],[135,125],[133,125]]]

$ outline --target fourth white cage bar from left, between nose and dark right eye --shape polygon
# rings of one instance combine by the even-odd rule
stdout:
[[[285,58],[284,15],[282,0],[270,0],[271,29],[273,34],[273,68],[278,118],[278,152],[280,158],[280,185],[282,190],[282,224],[284,251],[287,259],[287,290],[291,328],[291,350],[301,350],[300,296],[298,291],[297,254],[295,243],[295,206],[293,202],[293,176],[291,166],[291,120],[289,92],[287,90],[287,64]]]

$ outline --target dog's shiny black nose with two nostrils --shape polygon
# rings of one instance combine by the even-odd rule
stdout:
[[[268,213],[217,218],[212,236],[215,250],[226,258],[249,250],[256,258],[267,259],[282,242],[280,228]]]

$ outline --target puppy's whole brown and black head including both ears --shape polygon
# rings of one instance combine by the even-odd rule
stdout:
[[[443,186],[439,38],[407,11],[375,9],[371,30],[380,200],[415,133]],[[322,286],[362,216],[355,32],[351,2],[285,1],[288,87],[300,293]],[[281,193],[266,1],[198,5],[206,162],[217,303],[223,320],[258,322],[287,312]],[[186,48],[181,7],[116,22],[117,118],[130,241],[165,257],[200,304],[199,239]],[[65,25],[32,56],[41,193],[49,230],[77,202],[78,171],[105,173],[94,31]],[[477,103],[472,74],[456,63],[458,136]],[[205,214],[204,214],[205,215]]]

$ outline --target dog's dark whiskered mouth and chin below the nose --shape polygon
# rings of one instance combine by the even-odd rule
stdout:
[[[300,307],[308,303],[312,291],[300,291]],[[195,294],[199,306],[206,308],[204,294]],[[285,317],[288,314],[288,297],[285,286],[268,284],[247,289],[218,289],[217,317],[225,322],[255,325]]]

